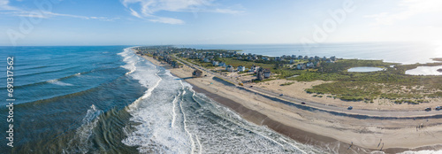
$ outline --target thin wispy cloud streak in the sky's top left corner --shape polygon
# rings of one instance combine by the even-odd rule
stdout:
[[[12,16],[39,18],[39,19],[49,19],[51,17],[69,17],[69,18],[76,18],[76,19],[98,19],[98,20],[102,20],[102,21],[113,21],[115,19],[119,19],[119,18],[109,19],[106,17],[79,16],[79,15],[72,15],[72,14],[48,12],[48,11],[26,11],[26,10],[22,10],[17,7],[13,7],[13,6],[9,5],[9,0],[0,0],[0,11],[3,11],[3,12],[0,12],[2,14],[11,14]]]

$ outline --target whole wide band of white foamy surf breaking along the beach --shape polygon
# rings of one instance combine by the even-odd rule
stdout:
[[[141,153],[324,153],[241,119],[133,52],[120,55],[136,64],[128,76],[148,88],[127,108],[139,125],[123,129],[122,142]]]

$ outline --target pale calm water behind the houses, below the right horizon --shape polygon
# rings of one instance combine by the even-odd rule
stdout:
[[[194,48],[206,50],[242,50],[271,57],[282,55],[316,55],[320,57],[336,56],[339,58],[359,58],[380,60],[388,63],[415,64],[432,63],[438,58],[435,50],[438,45],[425,42],[331,42],[310,44],[306,48],[301,43],[282,44],[187,44],[175,45],[178,48]]]

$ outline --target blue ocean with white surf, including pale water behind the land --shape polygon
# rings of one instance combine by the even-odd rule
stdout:
[[[407,44],[404,44],[407,45]],[[244,50],[256,54],[370,57],[390,55],[395,62],[442,57],[435,46],[428,55],[405,46],[354,44],[297,51],[293,45],[191,45],[197,49]],[[369,48],[370,49],[366,49]],[[419,45],[415,45],[415,50]],[[182,47],[177,45],[177,47]],[[369,52],[376,48],[382,50]],[[384,49],[385,48],[385,49]],[[347,49],[350,50],[350,49]],[[417,52],[417,51],[416,51]],[[375,54],[374,54],[375,53]],[[408,54],[404,54],[408,53]],[[420,52],[422,54],[423,52]],[[347,56],[346,56],[347,55]],[[14,58],[13,148],[2,133],[0,153],[324,153],[238,114],[194,92],[186,81],[140,58],[129,46],[0,47],[0,95],[9,102],[6,58]],[[404,58],[392,58],[404,56]],[[402,60],[400,60],[402,59]],[[405,60],[404,60],[405,59]],[[0,109],[0,130],[7,131],[10,110]]]

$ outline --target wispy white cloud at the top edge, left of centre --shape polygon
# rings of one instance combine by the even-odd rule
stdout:
[[[122,0],[134,17],[148,19],[152,22],[167,24],[184,24],[181,19],[156,16],[157,12],[217,12],[235,14],[240,11],[216,8],[213,0]],[[139,8],[134,9],[135,7]]]

